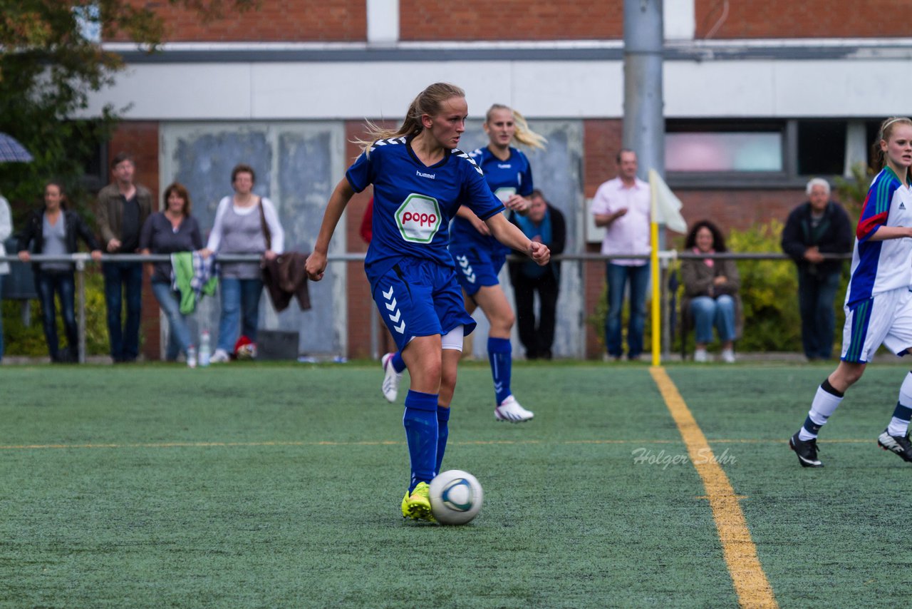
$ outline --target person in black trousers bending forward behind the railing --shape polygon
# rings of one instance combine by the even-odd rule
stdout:
[[[511,214],[510,221],[519,226],[523,235],[530,240],[547,246],[552,255],[563,253],[566,246],[564,215],[544,199],[540,190],[534,190],[529,199],[527,215]],[[552,358],[560,264],[552,261],[541,267],[531,260],[510,262],[510,281],[513,283],[513,298],[516,301],[516,325],[528,360]],[[540,305],[537,325],[535,292],[538,292]]]

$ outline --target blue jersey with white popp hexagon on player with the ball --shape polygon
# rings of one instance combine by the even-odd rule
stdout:
[[[429,167],[411,150],[410,138],[379,140],[346,178],[358,193],[374,184],[373,236],[364,262],[371,284],[402,257],[453,267],[449,225],[460,205],[482,220],[503,211],[482,170],[458,148]]]

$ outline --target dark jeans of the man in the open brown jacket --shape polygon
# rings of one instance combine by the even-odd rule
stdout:
[[[138,262],[105,262],[101,265],[101,270],[105,276],[111,359],[115,362],[133,362],[140,354],[142,265]],[[127,299],[127,319],[121,328],[124,297]]]

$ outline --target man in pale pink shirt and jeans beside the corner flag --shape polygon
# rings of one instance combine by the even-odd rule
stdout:
[[[592,201],[596,226],[606,228],[602,254],[648,255],[649,184],[637,178],[637,152],[617,153],[617,177],[598,187]],[[607,355],[615,361],[623,355],[621,309],[624,290],[630,288],[630,320],[627,325],[627,359],[636,360],[643,352],[646,326],[646,289],[649,264],[644,258],[613,258],[606,267],[608,314],[605,319]]]

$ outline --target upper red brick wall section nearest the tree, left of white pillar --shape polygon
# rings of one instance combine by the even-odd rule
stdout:
[[[154,8],[164,18],[165,40],[171,42],[349,42],[368,37],[365,0],[263,0],[256,10],[232,11],[208,23],[196,11],[165,0],[130,2]]]

